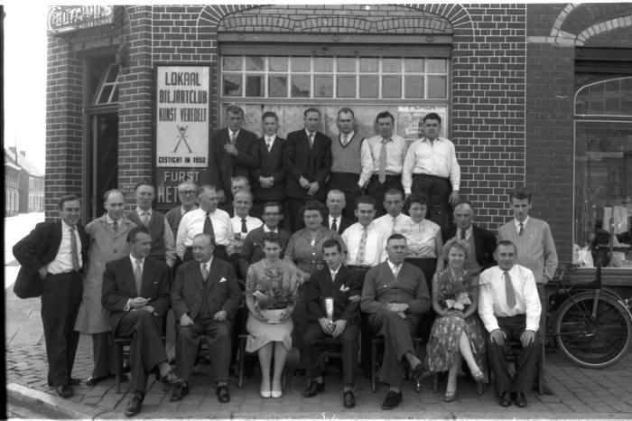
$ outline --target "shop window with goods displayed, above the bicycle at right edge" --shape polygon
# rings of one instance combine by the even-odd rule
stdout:
[[[632,267],[632,78],[582,87],[574,124],[574,243],[600,243],[610,267]]]

